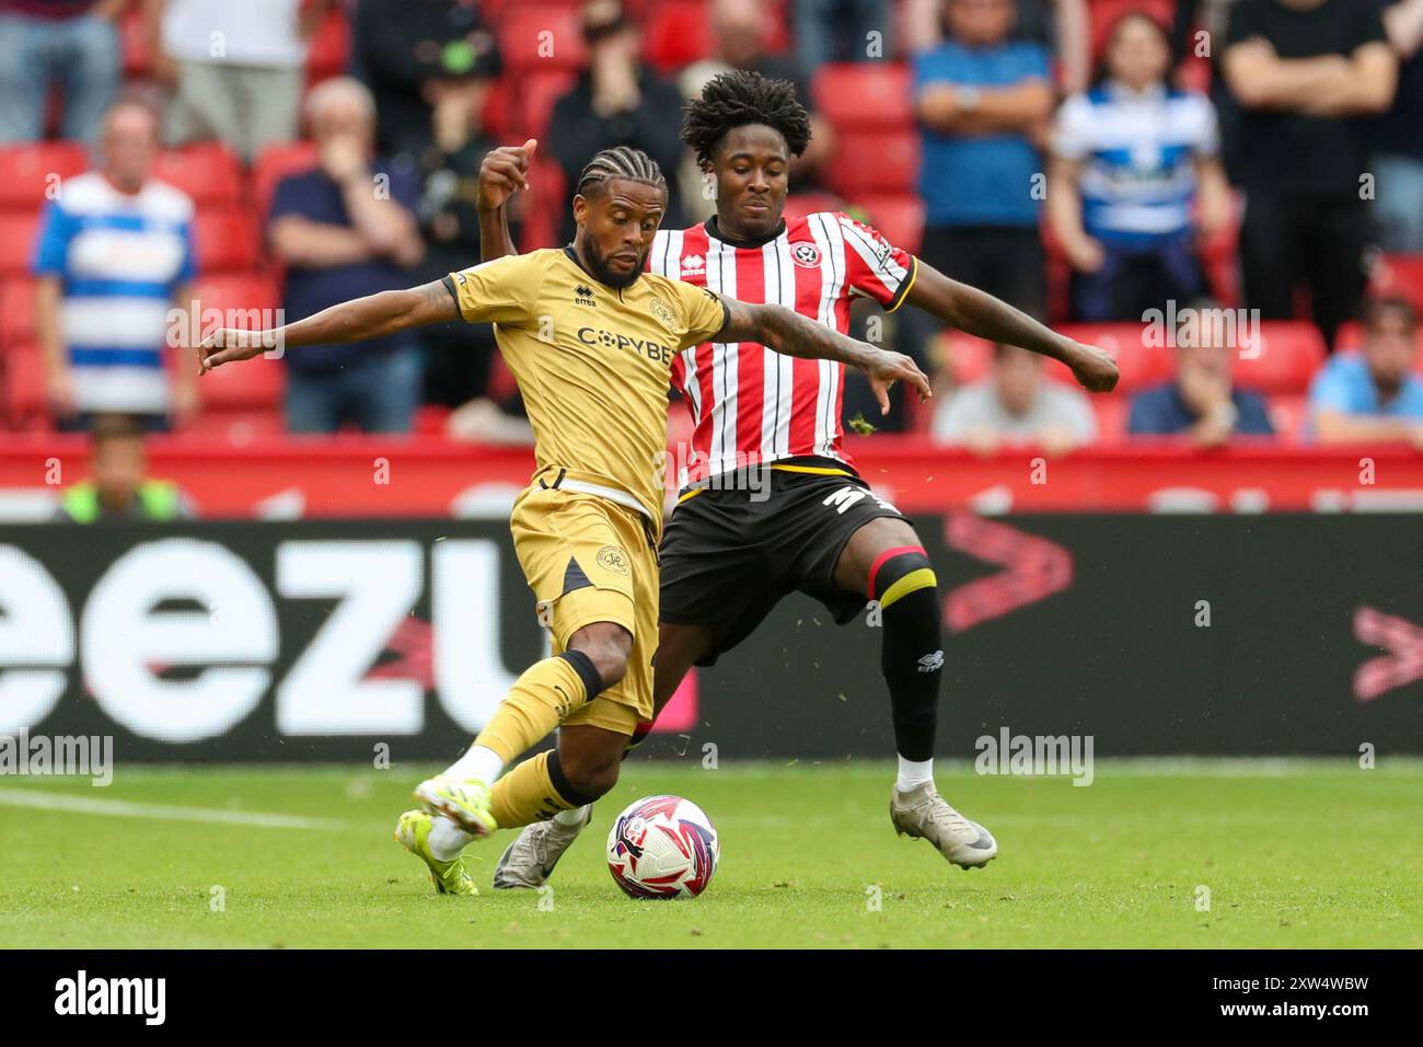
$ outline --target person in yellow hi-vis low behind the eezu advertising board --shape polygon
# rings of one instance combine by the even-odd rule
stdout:
[[[90,479],[68,487],[60,499],[60,523],[107,520],[191,520],[192,501],[171,480],[148,476],[144,424],[131,415],[94,419]]]

